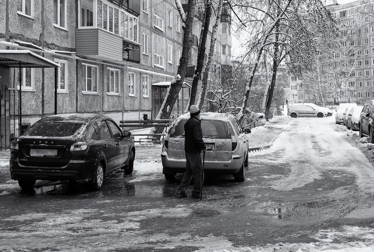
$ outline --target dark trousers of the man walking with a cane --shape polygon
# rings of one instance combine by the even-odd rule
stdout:
[[[203,174],[203,167],[201,163],[201,153],[185,152],[186,153],[186,172],[183,175],[181,184],[178,186],[177,192],[186,192],[188,185],[190,185],[193,178],[192,197],[200,197],[201,181]]]

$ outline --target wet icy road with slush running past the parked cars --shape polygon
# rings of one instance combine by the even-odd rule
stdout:
[[[250,154],[246,180],[206,176],[207,200],[175,195],[160,146],[137,148],[134,174],[99,192],[0,168],[0,251],[374,251],[374,168],[334,117],[292,118],[270,149]],[[288,122],[288,123],[287,123]],[[190,191],[188,191],[190,193]]]

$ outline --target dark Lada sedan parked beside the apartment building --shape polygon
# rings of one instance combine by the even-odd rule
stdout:
[[[59,114],[43,118],[12,142],[10,175],[24,189],[37,179],[83,180],[98,190],[104,175],[134,167],[129,131],[97,114]]]

